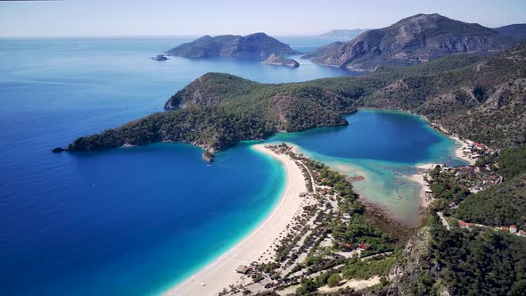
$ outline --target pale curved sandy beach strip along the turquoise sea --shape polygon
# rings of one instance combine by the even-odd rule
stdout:
[[[230,284],[249,283],[246,275],[236,273],[235,268],[240,265],[249,266],[253,261],[272,260],[271,256],[275,253],[272,250],[274,244],[288,231],[287,225],[292,222],[298,211],[308,204],[308,201],[299,196],[301,192],[306,192],[307,188],[303,174],[294,161],[288,155],[271,152],[263,144],[252,147],[258,152],[272,156],[284,165],[286,184],[278,204],[240,243],[164,295],[217,295]]]

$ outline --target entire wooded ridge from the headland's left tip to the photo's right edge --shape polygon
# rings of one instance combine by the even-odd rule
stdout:
[[[173,95],[165,104],[168,111],[80,137],[67,150],[168,141],[217,152],[278,131],[346,125],[342,116],[357,107],[411,111],[492,147],[519,145],[526,143],[524,78],[526,44],[490,57],[455,54],[407,68],[302,83],[261,84],[209,73]]]

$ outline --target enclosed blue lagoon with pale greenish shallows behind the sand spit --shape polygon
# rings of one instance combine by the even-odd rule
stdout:
[[[422,118],[401,111],[360,110],[347,120],[347,127],[278,134],[269,141],[297,144],[308,157],[365,177],[353,185],[366,201],[401,222],[417,223],[420,189],[406,177],[423,163],[462,164],[453,156],[456,143]]]

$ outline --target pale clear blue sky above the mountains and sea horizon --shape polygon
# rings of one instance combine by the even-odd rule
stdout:
[[[526,22],[526,0],[0,1],[0,37],[312,35],[437,12],[488,27]]]

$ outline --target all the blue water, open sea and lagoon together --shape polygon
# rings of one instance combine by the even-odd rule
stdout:
[[[299,59],[298,69],[150,59],[192,39],[0,39],[0,294],[159,294],[272,210],[284,170],[248,143],[219,153],[212,165],[187,144],[50,152],[162,111],[170,95],[209,71],[273,83],[353,75]],[[303,52],[331,41],[280,39]],[[369,174],[359,189],[380,203],[395,179],[386,171],[447,159],[453,146],[407,114],[359,111],[349,122],[272,140],[300,144],[349,174]],[[414,195],[413,185],[404,188]]]

